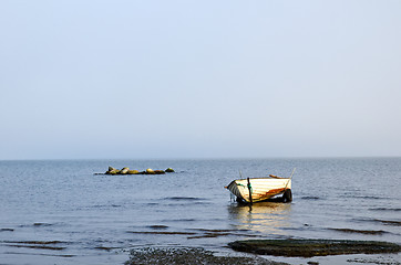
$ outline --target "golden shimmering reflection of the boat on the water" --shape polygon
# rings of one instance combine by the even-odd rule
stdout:
[[[228,212],[238,230],[250,230],[256,234],[286,235],[284,227],[290,226],[291,203],[258,202],[254,205],[232,204]]]

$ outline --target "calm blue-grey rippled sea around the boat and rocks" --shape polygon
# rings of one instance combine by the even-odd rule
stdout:
[[[109,167],[166,174],[103,174]],[[230,181],[292,176],[292,202],[238,204]],[[401,158],[0,161],[0,265],[124,264],[143,247],[203,247],[254,239],[401,244]],[[400,264],[400,254],[289,264]]]

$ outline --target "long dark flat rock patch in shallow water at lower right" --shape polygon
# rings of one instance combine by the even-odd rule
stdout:
[[[348,254],[399,253],[401,246],[379,241],[347,240],[249,240],[228,244],[239,252],[273,256],[327,256]]]

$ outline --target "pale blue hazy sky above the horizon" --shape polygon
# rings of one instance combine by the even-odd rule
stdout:
[[[0,0],[0,160],[401,156],[399,0]]]

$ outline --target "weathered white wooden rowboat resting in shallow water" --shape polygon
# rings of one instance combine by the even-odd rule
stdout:
[[[292,201],[291,177],[281,178],[269,174],[266,178],[247,178],[233,180],[226,188],[237,197],[237,201],[254,203],[282,195],[284,202]]]

